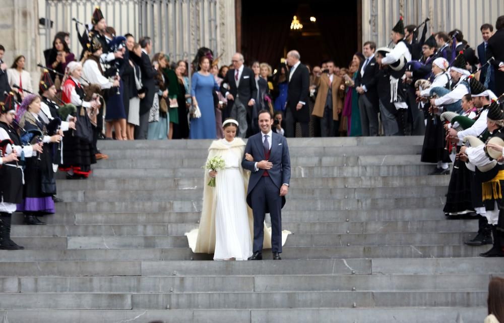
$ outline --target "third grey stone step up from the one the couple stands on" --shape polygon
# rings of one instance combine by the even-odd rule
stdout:
[[[198,223],[144,224],[144,225],[47,225],[12,227],[13,237],[108,237],[108,236],[183,236],[198,228]],[[386,221],[386,222],[326,222],[290,223],[283,218],[282,227],[298,235],[302,234],[393,234],[475,232],[478,223],[471,220],[439,221]],[[426,240],[428,240],[426,238]]]

